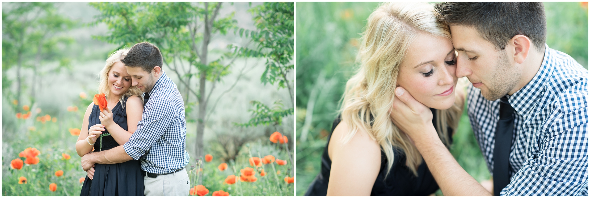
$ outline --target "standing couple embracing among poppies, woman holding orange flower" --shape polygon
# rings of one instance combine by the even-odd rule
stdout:
[[[188,196],[184,103],[158,47],[113,52],[99,93],[107,107],[88,106],[76,143],[87,171],[80,196]]]

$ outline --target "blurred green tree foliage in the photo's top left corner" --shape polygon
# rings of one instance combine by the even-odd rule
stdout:
[[[44,62],[59,61],[56,72],[70,67],[70,58],[61,52],[73,42],[65,32],[77,25],[67,17],[57,14],[53,2],[9,2],[2,10],[2,93],[21,101],[24,79],[22,70],[31,68],[30,100],[35,101],[36,85],[41,81],[39,69]],[[9,91],[12,80],[6,71],[17,67],[17,90]],[[22,103],[21,103],[22,104]],[[19,107],[20,104],[17,106]]]

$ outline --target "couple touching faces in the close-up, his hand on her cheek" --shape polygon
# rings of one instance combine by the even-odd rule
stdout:
[[[588,196],[588,70],[545,39],[541,2],[382,4],[306,196]],[[448,151],[464,101],[493,193]]]

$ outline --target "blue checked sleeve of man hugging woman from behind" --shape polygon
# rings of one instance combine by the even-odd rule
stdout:
[[[168,130],[174,116],[166,98],[150,98],[143,110],[142,120],[137,123],[137,130],[123,144],[123,149],[131,158],[139,160],[150,147]]]

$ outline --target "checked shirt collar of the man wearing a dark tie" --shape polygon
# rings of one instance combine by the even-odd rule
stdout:
[[[549,46],[545,44],[545,55],[543,56],[543,62],[535,77],[525,87],[516,91],[512,94],[508,101],[514,108],[516,113],[520,116],[527,117],[533,114],[533,108],[539,103],[540,97],[545,94],[546,82],[549,81],[550,77],[555,71],[555,52],[551,51]]]

